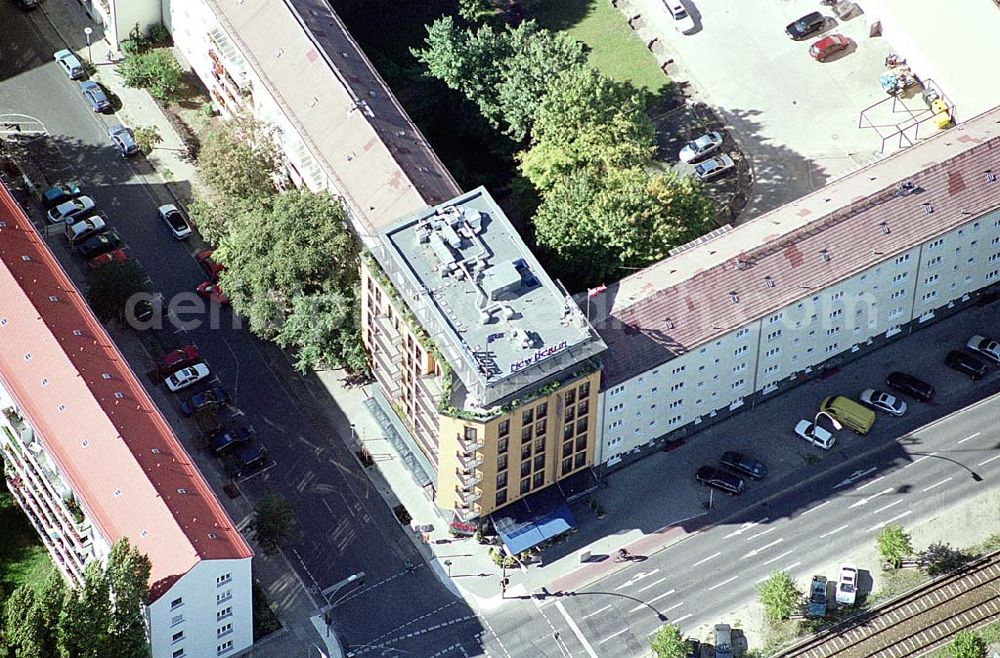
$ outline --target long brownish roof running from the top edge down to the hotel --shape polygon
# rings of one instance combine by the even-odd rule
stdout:
[[[369,230],[461,193],[328,3],[208,1]]]

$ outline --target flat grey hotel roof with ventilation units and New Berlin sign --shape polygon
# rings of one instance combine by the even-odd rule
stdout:
[[[494,405],[605,349],[485,188],[413,213],[379,237],[376,258],[468,389],[470,406]]]

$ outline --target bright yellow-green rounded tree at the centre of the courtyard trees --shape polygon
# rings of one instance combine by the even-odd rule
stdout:
[[[520,170],[545,192],[580,168],[607,172],[644,166],[656,149],[642,95],[587,67],[556,78],[538,107],[531,148],[518,155]]]

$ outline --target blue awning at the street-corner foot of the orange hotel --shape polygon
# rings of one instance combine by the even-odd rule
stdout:
[[[517,555],[576,526],[558,487],[533,493],[491,515],[511,555]]]

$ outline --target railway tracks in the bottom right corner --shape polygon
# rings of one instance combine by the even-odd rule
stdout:
[[[844,621],[779,658],[903,658],[1000,619],[1000,552]]]

